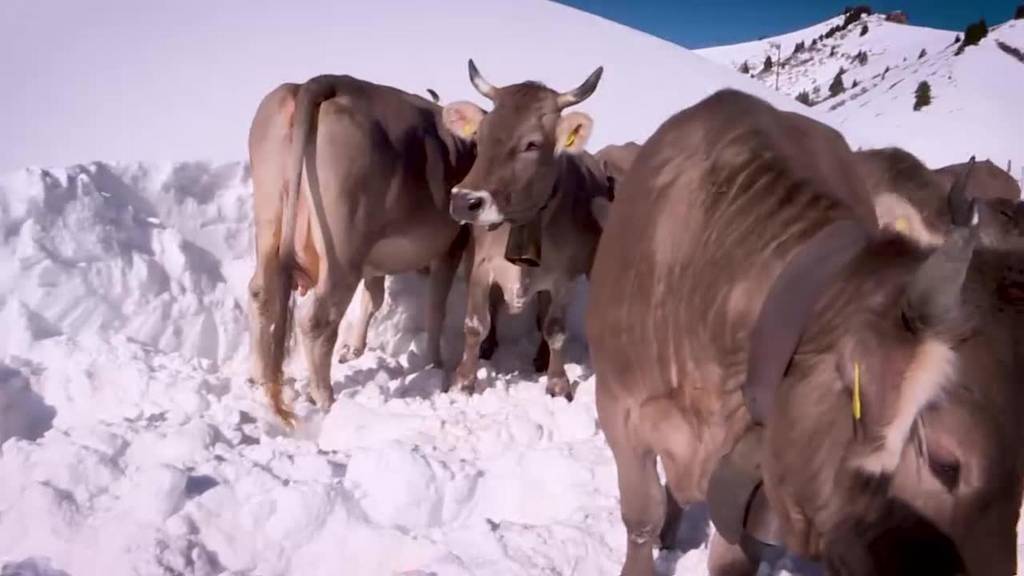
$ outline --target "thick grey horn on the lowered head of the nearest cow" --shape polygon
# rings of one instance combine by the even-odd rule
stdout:
[[[977,243],[977,210],[972,209],[968,217],[972,225],[954,228],[910,280],[903,321],[914,333],[941,330],[958,320],[961,292]]]

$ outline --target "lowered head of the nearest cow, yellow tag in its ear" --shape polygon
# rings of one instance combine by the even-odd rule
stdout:
[[[950,196],[959,225],[930,255],[889,239],[858,260],[839,290],[862,303],[812,323],[809,339],[830,352],[795,362],[799,383],[776,412],[792,430],[773,454],[800,455],[769,464],[786,466],[771,476],[813,518],[826,557],[846,567],[837,574],[888,574],[878,567],[894,559],[883,557],[906,560],[922,541],[942,548],[947,569],[959,557],[966,574],[1014,573],[1024,302],[1001,287],[1024,257],[976,250],[977,211]]]

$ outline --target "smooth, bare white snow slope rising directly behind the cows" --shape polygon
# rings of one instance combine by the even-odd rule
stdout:
[[[597,66],[595,150],[642,140],[725,85],[795,108],[669,42],[543,0],[133,0],[0,3],[0,170],[246,157],[260,98],[282,82],[351,74],[444,101],[534,79],[567,90]],[[13,55],[14,57],[9,57]],[[8,143],[16,142],[16,145]]]

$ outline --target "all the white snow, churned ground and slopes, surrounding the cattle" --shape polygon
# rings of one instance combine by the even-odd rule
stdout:
[[[1024,45],[1020,27],[992,36]],[[954,86],[990,98],[992,122],[1009,106],[985,90],[1014,88],[1019,71],[991,48],[952,64],[936,49],[934,64],[900,72],[911,82],[953,67],[955,82],[936,81],[936,102],[911,117],[924,124],[902,128],[920,131],[922,150],[1021,158],[1005,137],[1012,119],[982,125],[988,132],[956,123],[966,113]],[[864,141],[910,122],[902,92],[890,108],[868,94],[809,111],[687,50],[540,1],[5,2],[0,53],[15,55],[0,74],[18,86],[0,92],[3,576],[617,573],[626,537],[583,343],[583,282],[568,319],[572,403],[549,398],[532,372],[528,308],[501,319],[482,394],[440,394],[443,374],[422,358],[426,281],[409,274],[388,279],[367,354],[334,367],[332,410],[311,406],[296,354],[287,371],[299,426],[286,433],[270,416],[246,378],[254,251],[239,159],[275,84],[337,72],[479,101],[470,56],[496,84],[561,89],[604,65],[581,107],[596,118],[595,150],[642,140],[724,86],[827,117]],[[1007,68],[988,78],[989,65]],[[888,116],[854,114],[866,102]],[[449,303],[450,365],[464,292],[457,282]],[[706,573],[712,528],[701,506],[690,512],[684,552],[663,552],[662,575]]]

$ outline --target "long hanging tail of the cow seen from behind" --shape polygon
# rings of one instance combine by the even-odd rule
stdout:
[[[312,129],[316,121],[316,114],[319,105],[331,96],[331,86],[317,79],[306,82],[299,88],[295,98],[295,114],[292,123],[292,139],[289,142],[287,157],[288,195],[285,197],[285,209],[282,214],[281,244],[279,245],[279,258],[281,263],[281,278],[284,284],[281,294],[281,301],[278,302],[281,314],[274,323],[270,341],[270,359],[273,366],[273,377],[267,382],[266,394],[270,401],[274,413],[289,427],[294,426],[295,414],[285,405],[282,396],[284,386],[284,364],[288,357],[289,336],[292,333],[292,287],[295,282],[296,255],[295,255],[295,230],[298,225],[296,214],[298,213],[299,194],[302,193],[302,169],[304,164],[309,162],[310,157],[315,154],[315,132]],[[307,167],[307,173],[313,166]],[[315,174],[307,174],[309,186],[306,187],[306,201],[309,205],[309,214],[313,221],[311,229],[319,240],[318,249],[323,250],[324,244],[324,222],[321,218],[322,202],[319,201],[319,188],[314,186],[317,181]],[[326,272],[326,271],[322,271]]]

